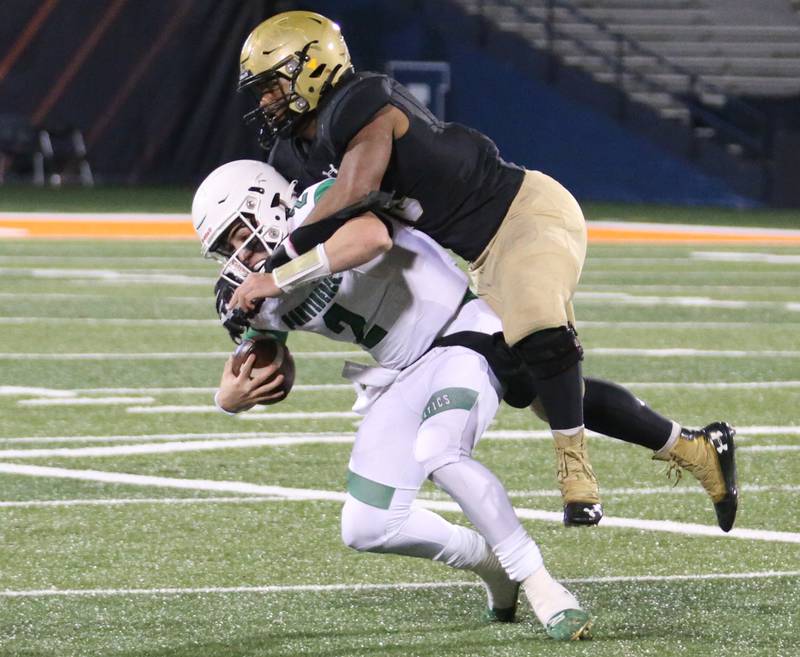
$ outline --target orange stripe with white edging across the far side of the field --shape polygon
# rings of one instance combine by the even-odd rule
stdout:
[[[800,245],[800,230],[589,222],[589,241]],[[189,215],[0,213],[0,238],[184,240],[196,239]]]

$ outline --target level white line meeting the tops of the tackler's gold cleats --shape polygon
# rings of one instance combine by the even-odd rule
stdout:
[[[359,416],[360,417],[360,416]],[[293,419],[305,419],[298,417]],[[753,436],[796,436],[800,435],[800,426],[787,425],[787,426],[752,426],[752,427],[737,427],[737,440],[750,438]],[[602,434],[588,431],[587,435],[592,440],[607,440],[618,442],[614,438],[609,438]],[[209,446],[204,449],[228,449],[230,447],[252,447],[253,445],[243,443],[241,445],[234,444],[235,440],[249,440],[249,439],[262,439],[264,440],[263,446],[284,446],[284,445],[311,445],[314,443],[348,443],[353,442],[355,434],[341,433],[341,432],[269,432],[269,431],[250,431],[250,432],[221,432],[221,433],[155,433],[155,434],[126,434],[126,435],[108,435],[108,436],[20,436],[10,438],[0,438],[0,444],[36,444],[36,443],[92,443],[92,442],[147,442],[147,441],[176,441],[176,445],[191,445],[193,443],[206,444]],[[484,432],[481,440],[551,440],[552,436],[550,431],[546,429],[528,431],[528,430],[490,430]],[[177,442],[183,441],[183,442]],[[168,443],[158,443],[164,445]],[[211,447],[210,445],[217,445]],[[155,445],[155,444],[154,444]],[[259,445],[261,446],[261,445]],[[784,446],[774,445],[765,447],[769,448],[763,451],[780,451]],[[793,448],[793,445],[788,447]],[[774,449],[778,448],[778,449]],[[90,448],[78,448],[90,449]],[[95,448],[91,448],[95,449]],[[112,449],[112,448],[103,448]],[[122,450],[125,447],[116,447],[113,449]],[[737,449],[745,449],[744,447],[737,447]],[[19,450],[24,456],[34,456],[34,450]],[[50,450],[43,450],[43,455],[66,455],[69,451],[67,449],[63,452],[55,454],[45,454]],[[159,449],[159,451],[169,451],[166,449]],[[182,447],[181,451],[191,451],[187,447]],[[6,454],[7,452],[2,452]],[[16,453],[16,452],[15,452]],[[107,456],[114,454],[122,455],[121,452],[109,452]],[[8,457],[7,457],[8,458]]]

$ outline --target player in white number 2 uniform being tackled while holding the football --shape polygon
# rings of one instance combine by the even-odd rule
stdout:
[[[224,259],[223,276],[234,284],[258,271],[313,209],[325,184],[295,203],[291,185],[268,165],[223,165],[206,178],[192,205],[204,254]],[[359,251],[366,240],[374,256],[368,262],[350,259],[354,239]],[[501,330],[449,256],[427,236],[367,215],[273,273],[283,293],[250,304],[252,329],[305,330],[356,343],[378,364],[345,368],[361,391],[356,408],[365,414],[350,456],[341,519],[345,544],[475,572],[497,620],[514,619],[522,585],[549,636],[588,637],[589,615],[548,573],[500,481],[472,458],[503,385],[481,353],[465,346],[431,348],[455,334],[488,337]],[[269,382],[267,370],[251,380],[251,367],[252,357],[234,375],[229,359],[216,396],[222,410],[240,412],[280,397],[280,377]],[[427,478],[459,504],[477,532],[412,507]]]

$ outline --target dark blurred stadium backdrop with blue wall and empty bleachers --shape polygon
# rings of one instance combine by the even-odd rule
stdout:
[[[253,25],[301,3],[6,0],[0,179],[179,185],[258,157],[233,89]],[[581,201],[797,207],[791,0],[320,0],[390,70]],[[427,64],[413,64],[427,62]],[[4,196],[10,194],[8,188]]]

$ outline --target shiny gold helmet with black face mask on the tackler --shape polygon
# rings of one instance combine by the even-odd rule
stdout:
[[[317,108],[320,98],[352,70],[339,26],[311,11],[287,11],[265,20],[247,37],[239,61],[239,91],[253,91],[259,103],[269,90],[280,98],[245,114],[269,148],[279,134]],[[288,91],[280,85],[286,80]]]

